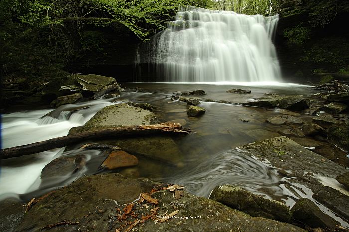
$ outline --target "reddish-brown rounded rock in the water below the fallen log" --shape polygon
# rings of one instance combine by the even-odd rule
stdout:
[[[138,164],[138,159],[124,151],[113,151],[104,160],[101,167],[113,170],[119,167],[132,167]]]

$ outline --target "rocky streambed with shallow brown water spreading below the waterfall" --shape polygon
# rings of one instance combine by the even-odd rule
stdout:
[[[1,231],[348,229],[348,102],[305,87],[109,85],[116,82],[41,120],[85,115],[69,136],[163,122],[192,133],[65,147],[42,169],[38,187],[0,203]],[[104,102],[92,115],[90,96]]]

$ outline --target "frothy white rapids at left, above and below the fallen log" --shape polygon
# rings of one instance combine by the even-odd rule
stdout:
[[[111,105],[109,101],[99,99],[85,103],[63,105],[54,111],[34,110],[4,114],[1,122],[2,147],[14,147],[65,136],[70,128],[84,125],[97,111],[108,105]],[[74,109],[80,110],[71,113],[70,111]],[[54,117],[43,117],[49,112]],[[42,168],[53,159],[64,155],[62,152],[62,149],[53,149],[47,152],[2,160],[0,200],[37,190],[41,183]]]

